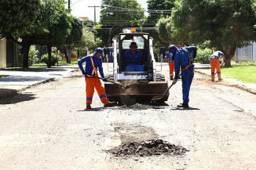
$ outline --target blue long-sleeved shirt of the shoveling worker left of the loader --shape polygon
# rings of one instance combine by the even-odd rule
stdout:
[[[83,57],[82,59],[80,59],[78,61],[78,64],[79,64],[79,68],[81,71],[84,71],[83,67],[82,67],[82,63],[86,62],[86,67],[85,67],[85,70],[86,70],[86,73],[87,74],[92,74],[93,72],[93,64],[90,60],[90,56],[92,56],[93,58],[93,63],[94,63],[94,67],[100,71],[100,74],[101,74],[101,78],[105,78],[104,77],[104,73],[103,73],[103,67],[102,67],[102,59],[101,59],[101,56],[100,57],[94,57],[93,56],[93,53],[88,55],[88,56],[85,56]],[[86,78],[92,78],[92,77],[88,77],[87,75],[85,75]]]

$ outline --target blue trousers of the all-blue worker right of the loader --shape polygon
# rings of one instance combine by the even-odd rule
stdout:
[[[189,67],[185,71],[181,71],[181,80],[182,80],[182,94],[183,94],[183,103],[189,102],[189,90],[192,80],[194,78],[194,68]]]

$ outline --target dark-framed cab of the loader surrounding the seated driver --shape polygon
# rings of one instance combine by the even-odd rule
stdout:
[[[130,50],[130,43],[137,43],[137,50],[142,53],[142,62],[140,63],[143,67],[143,71],[135,72],[130,74],[148,74],[149,68],[149,34],[141,32],[132,32],[132,33],[120,33],[119,34],[119,73],[129,74],[126,71],[126,61],[125,53],[127,50]]]

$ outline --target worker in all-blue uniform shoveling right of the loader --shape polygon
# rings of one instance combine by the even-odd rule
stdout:
[[[176,84],[178,75],[181,71],[183,103],[177,105],[177,107],[188,107],[189,90],[192,84],[192,79],[194,78],[193,60],[196,58],[196,51],[196,46],[177,48],[177,46],[172,45],[170,47],[170,53],[174,57],[174,85]]]

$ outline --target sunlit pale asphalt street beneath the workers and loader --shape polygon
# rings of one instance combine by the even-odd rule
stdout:
[[[165,63],[166,80],[168,71]],[[86,84],[76,74],[0,103],[0,169],[256,168],[254,94],[196,73],[188,110],[176,107],[182,102],[181,81],[163,105],[103,108],[95,92],[93,109],[85,110]],[[163,139],[186,151],[153,156],[109,152],[149,139]]]

